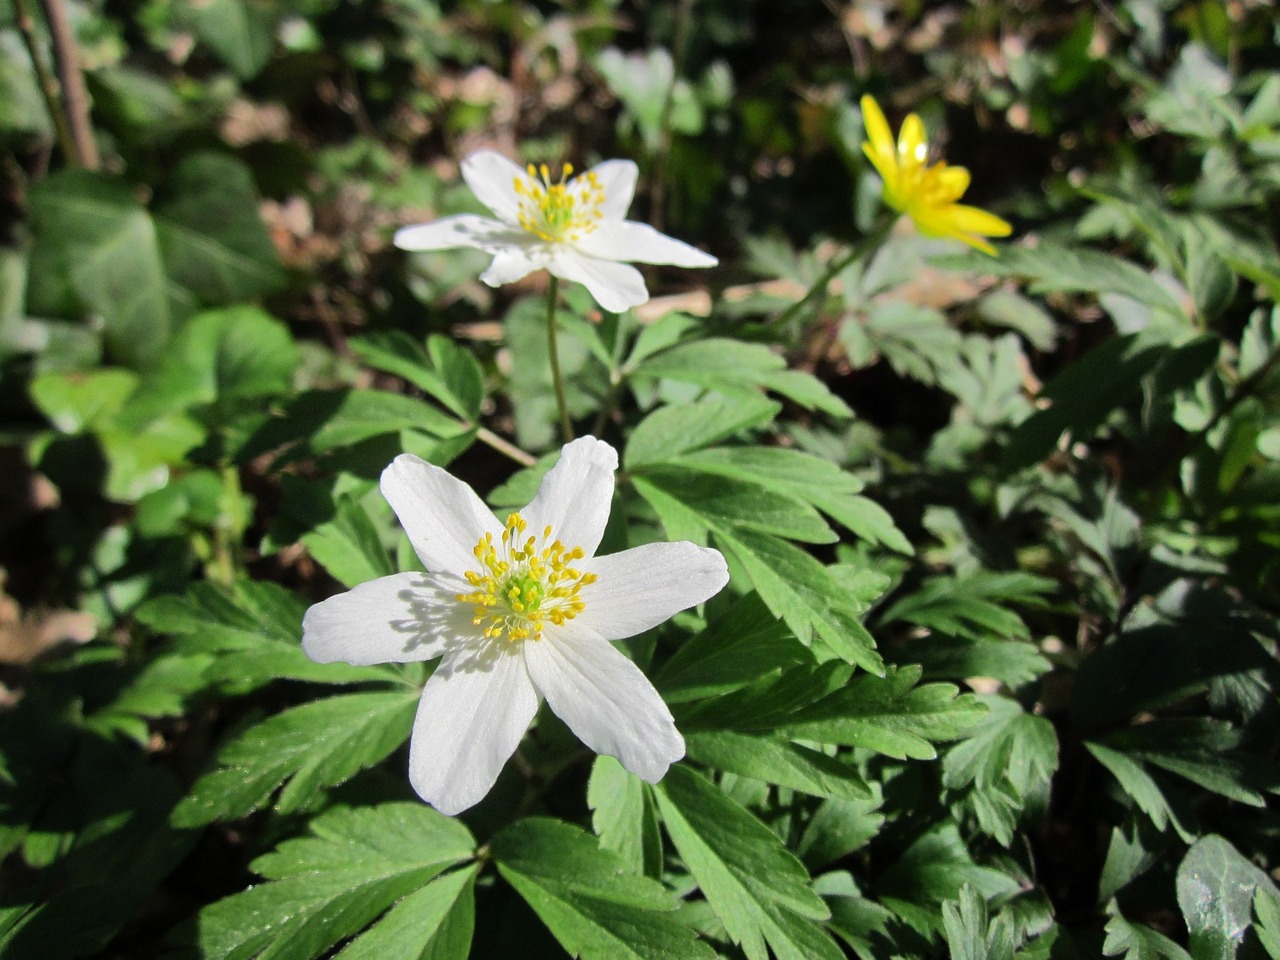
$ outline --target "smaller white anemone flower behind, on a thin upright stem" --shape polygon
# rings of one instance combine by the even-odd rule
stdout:
[[[497,220],[474,214],[447,216],[396,233],[402,250],[476,247],[493,253],[480,279],[490,287],[545,269],[581,283],[605,310],[620,312],[649,300],[634,266],[716,266],[713,256],[653,227],[625,220],[636,187],[636,165],[607,160],[573,175],[564,164],[553,182],[544,164],[521,169],[500,154],[481,150],[462,161],[462,178]]]

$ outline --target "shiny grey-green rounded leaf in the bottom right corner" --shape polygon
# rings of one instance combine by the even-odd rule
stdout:
[[[1178,865],[1178,906],[1196,960],[1236,956],[1253,920],[1253,897],[1280,896],[1262,870],[1220,836],[1201,837]]]

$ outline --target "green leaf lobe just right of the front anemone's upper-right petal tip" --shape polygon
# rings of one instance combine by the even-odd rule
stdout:
[[[623,462],[627,470],[662,463],[760,426],[781,410],[780,403],[758,394],[732,399],[712,397],[698,403],[659,407],[631,431]]]

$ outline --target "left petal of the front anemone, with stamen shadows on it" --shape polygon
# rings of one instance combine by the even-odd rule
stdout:
[[[424,573],[370,580],[307,609],[302,649],[317,663],[430,660],[475,634],[458,589]]]

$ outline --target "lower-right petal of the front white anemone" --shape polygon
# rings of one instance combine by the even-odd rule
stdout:
[[[653,684],[631,660],[576,621],[525,643],[538,691],[579,740],[657,783],[685,755],[685,739]]]

